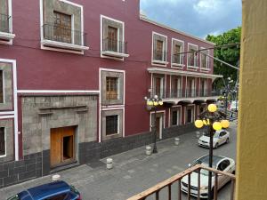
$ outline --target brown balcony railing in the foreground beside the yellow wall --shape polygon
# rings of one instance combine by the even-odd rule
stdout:
[[[130,198],[128,198],[127,200],[145,200],[147,199],[149,196],[155,196],[153,199],[156,200],[160,200],[159,196],[160,192],[163,191],[164,188],[167,188],[167,195],[164,196],[162,199],[163,200],[172,200],[174,199],[172,197],[172,186],[174,185],[174,183],[178,182],[178,200],[182,200],[182,178],[185,176],[188,176],[188,188],[191,188],[191,182],[190,182],[190,174],[192,172],[198,172],[198,197],[197,199],[200,200],[200,170],[206,170],[209,172],[214,172],[214,200],[218,199],[218,175],[221,174],[223,176],[226,176],[228,178],[231,179],[231,200],[234,199],[234,188],[235,188],[235,182],[236,182],[236,177],[235,175],[228,173],[228,172],[222,172],[222,171],[218,171],[215,170],[213,168],[210,167],[206,167],[204,165],[200,165],[200,164],[196,164],[195,166],[190,167],[189,169],[180,172],[176,175],[174,175],[173,177],[169,178],[168,180],[164,180],[160,183],[158,183],[156,186],[153,186],[152,188],[148,188],[147,190],[143,191],[142,193],[132,196]],[[177,198],[175,198],[177,199]],[[187,194],[187,199],[190,200],[190,189],[188,189],[188,194]]]

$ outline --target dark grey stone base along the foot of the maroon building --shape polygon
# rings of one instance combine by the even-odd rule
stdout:
[[[193,124],[174,126],[163,130],[163,140],[196,131]],[[78,164],[97,161],[103,157],[116,155],[134,148],[140,148],[153,142],[152,132],[142,132],[125,138],[79,144]],[[0,188],[11,186],[26,180],[49,175],[50,150],[24,156],[23,160],[0,164]]]

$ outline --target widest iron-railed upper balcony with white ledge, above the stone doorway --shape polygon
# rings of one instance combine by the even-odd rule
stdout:
[[[70,28],[63,28],[53,24],[44,24],[44,39],[41,43],[44,46],[58,47],[75,51],[84,51],[89,48],[86,44],[86,34]]]

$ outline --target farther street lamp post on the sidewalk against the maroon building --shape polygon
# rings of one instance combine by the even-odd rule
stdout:
[[[145,97],[145,100],[147,100],[147,106],[151,107],[154,109],[154,123],[153,123],[153,132],[154,132],[154,146],[153,146],[153,150],[152,150],[152,153],[153,154],[156,154],[158,153],[158,149],[157,149],[157,126],[156,126],[156,123],[157,123],[157,107],[158,106],[162,106],[163,105],[163,101],[158,98],[158,95],[155,95],[153,98],[147,98]]]

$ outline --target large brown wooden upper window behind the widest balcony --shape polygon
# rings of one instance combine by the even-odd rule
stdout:
[[[53,12],[53,37],[55,41],[71,44],[71,15]]]

